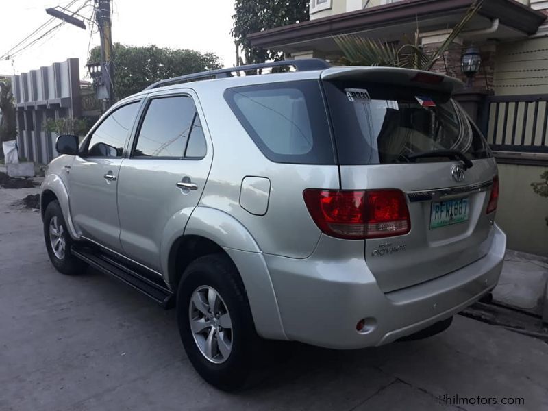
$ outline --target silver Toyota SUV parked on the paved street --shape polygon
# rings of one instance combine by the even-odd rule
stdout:
[[[458,87],[314,59],[154,84],[82,143],[58,138],[41,197],[51,262],[175,304],[188,358],[226,390],[262,339],[434,334],[495,287],[506,249],[497,166]]]

